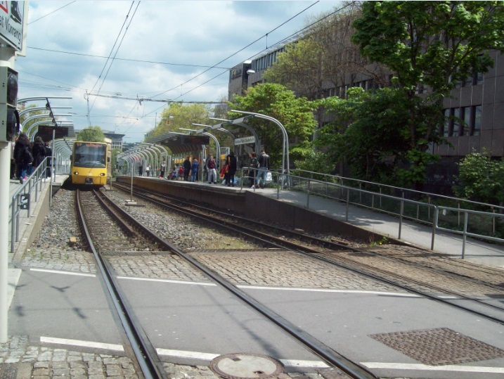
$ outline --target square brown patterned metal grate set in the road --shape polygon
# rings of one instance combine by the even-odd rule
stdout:
[[[448,328],[373,334],[370,337],[429,366],[504,357],[504,350]]]

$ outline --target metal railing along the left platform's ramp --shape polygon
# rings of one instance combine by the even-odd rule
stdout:
[[[19,241],[21,219],[30,219],[34,210],[34,203],[37,203],[42,192],[42,187],[47,183],[46,169],[50,158],[45,158],[41,164],[34,169],[27,180],[12,195],[9,204],[9,226],[11,227],[11,252],[14,252],[15,243]],[[55,173],[53,172],[53,175]],[[26,212],[26,214],[25,214]]]

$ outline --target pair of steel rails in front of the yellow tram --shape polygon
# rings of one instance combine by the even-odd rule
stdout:
[[[138,248],[138,245],[143,246],[143,251],[148,251],[152,254],[157,252],[172,252],[173,254],[179,255],[186,259],[187,262],[190,262],[197,269],[202,271],[208,278],[211,278],[212,281],[219,284],[222,288],[228,290],[228,292],[232,293],[235,297],[238,297],[249,307],[258,311],[262,314],[266,319],[276,324],[276,326],[282,328],[285,332],[295,338],[298,342],[301,342],[302,345],[309,349],[314,354],[318,355],[323,359],[323,361],[327,362],[330,366],[340,368],[344,373],[346,373],[349,378],[358,378],[358,379],[371,379],[376,378],[373,373],[370,373],[366,368],[359,366],[358,364],[350,361],[345,358],[338,352],[335,352],[330,347],[323,344],[323,342],[317,340],[309,333],[306,333],[304,330],[295,326],[290,321],[284,319],[279,316],[275,312],[271,311],[268,307],[265,307],[264,304],[257,302],[253,297],[247,295],[243,290],[240,290],[237,286],[233,285],[230,281],[226,280],[216,272],[208,269],[205,265],[200,264],[196,259],[186,255],[184,252],[176,248],[174,245],[168,243],[165,240],[157,237],[154,233],[146,229],[141,223],[134,220],[131,216],[120,209],[119,206],[113,205],[112,202],[105,199],[105,195],[100,193],[99,191],[93,191],[91,193],[86,193],[84,195],[86,200],[81,198],[82,192],[77,191],[77,207],[79,208],[79,213],[82,214],[82,210],[86,208],[86,214],[82,214],[79,218],[82,220],[82,229],[83,234],[86,236],[86,240],[88,240],[88,244],[93,250],[93,254],[96,257],[96,261],[98,262],[98,266],[101,272],[103,272],[103,277],[107,281],[107,287],[110,295],[112,296],[112,300],[115,304],[117,304],[117,313],[123,314],[124,316],[120,317],[124,326],[124,330],[131,342],[131,349],[135,352],[136,359],[138,360],[138,366],[141,368],[141,371],[146,376],[146,378],[164,378],[164,373],[160,371],[160,360],[155,354],[155,349],[145,335],[141,332],[141,326],[138,325],[138,321],[136,321],[135,316],[131,314],[129,307],[127,305],[127,300],[124,299],[124,295],[122,295],[121,290],[115,280],[113,278],[112,269],[108,266],[106,259],[103,255],[109,255],[113,253],[114,243],[106,243],[102,237],[98,237],[96,245],[98,248],[95,248],[95,243],[93,243],[93,239],[95,237],[94,233],[98,233],[98,235],[105,236],[111,235],[113,239],[115,236],[119,234],[117,229],[122,229],[124,235],[119,237],[119,240],[123,238],[130,239],[127,243],[122,243],[119,247],[122,249],[127,249],[127,251],[135,250]],[[93,198],[96,199],[96,203],[98,203],[98,198],[101,199],[101,207],[106,208],[107,216],[98,216],[98,208],[95,205],[92,205]],[[85,206],[83,205],[85,202]],[[110,217],[113,219],[122,219],[123,221],[118,221],[119,226],[112,226],[112,222]],[[127,219],[127,221],[124,221]],[[87,221],[87,222],[86,222]],[[89,228],[89,221],[92,221],[93,227]],[[112,227],[114,230],[109,231],[110,229],[103,229],[103,226],[97,226],[96,224],[105,224],[106,226]],[[134,226],[130,226],[134,225]],[[91,229],[91,231],[90,231]],[[144,236],[144,240],[138,244],[136,240],[139,236]],[[106,240],[106,238],[105,238]],[[150,242],[148,242],[150,241]],[[150,243],[150,248],[145,248],[146,243]],[[110,247],[112,246],[112,247]],[[124,251],[124,250],[122,250]],[[136,250],[138,251],[138,250]]]

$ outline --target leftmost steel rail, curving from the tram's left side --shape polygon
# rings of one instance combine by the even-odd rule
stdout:
[[[129,315],[129,311],[122,302],[121,296],[117,291],[117,288],[112,279],[112,274],[110,274],[108,267],[105,265],[105,262],[103,262],[103,258],[93,245],[91,235],[86,226],[86,219],[84,219],[84,212],[82,212],[79,190],[76,191],[76,198],[77,217],[79,218],[80,224],[82,226],[82,231],[84,232],[87,243],[89,244],[89,248],[91,248],[91,251],[93,252],[93,255],[96,259],[96,263],[98,264],[98,268],[100,269],[100,272],[103,276],[108,293],[110,297],[112,297],[112,302],[114,303],[115,310],[117,311],[117,316],[119,316],[124,331],[127,334],[129,341],[131,342],[131,349],[133,349],[141,371],[146,379],[165,378],[165,375],[163,375],[157,368],[153,357],[149,353],[150,349],[146,347],[145,342],[141,338],[141,334],[138,333],[138,330],[136,330],[134,322]]]

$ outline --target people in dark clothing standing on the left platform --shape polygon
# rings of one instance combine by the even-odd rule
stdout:
[[[30,142],[25,133],[20,133],[15,143],[11,145],[11,179],[18,179],[20,184],[23,184],[46,157],[49,157],[46,177],[51,177],[53,151],[49,147],[49,142],[44,143],[40,136]]]

